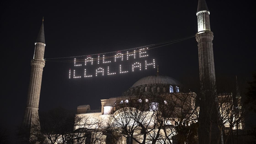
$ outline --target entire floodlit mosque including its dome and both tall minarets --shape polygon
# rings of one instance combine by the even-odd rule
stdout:
[[[210,30],[209,14],[206,2],[199,0],[196,12],[198,23],[196,41],[198,42],[200,82],[202,89],[205,91],[209,91],[209,87],[214,87],[215,83],[213,32]],[[31,60],[27,106],[23,119],[23,126],[27,128],[30,128],[36,122],[33,117],[38,116],[42,71],[45,64],[45,46],[44,24],[42,23],[35,42],[34,57]],[[205,96],[207,103],[205,106],[200,107],[200,111],[202,111],[201,117],[207,114],[205,109],[209,105],[212,106],[210,98],[207,95],[203,96]],[[237,98],[241,99],[241,97]],[[161,110],[160,117],[157,110]],[[97,119],[97,122],[90,125],[90,127],[82,124],[76,125],[75,130],[81,128],[92,129],[92,131],[88,131],[90,136],[86,141],[86,143],[92,143],[93,129],[98,128],[99,122],[104,121],[103,125],[105,127],[112,122],[112,124],[116,125],[103,133],[104,136],[101,136],[105,138],[104,143],[106,144],[151,143],[152,141],[155,141],[155,143],[175,143],[176,132],[173,127],[179,124],[180,126],[193,125],[198,121],[198,112],[199,107],[196,105],[196,94],[194,92],[183,90],[183,86],[179,81],[169,76],[160,75],[157,72],[156,75],[146,76],[135,82],[120,97],[101,100],[101,109],[91,110],[89,105],[79,105],[76,117],[86,118],[90,122]],[[140,115],[144,123],[133,119],[131,114],[135,117]],[[205,123],[208,124],[208,122]],[[158,128],[154,127],[154,125],[157,125]],[[226,126],[228,127],[228,124]],[[118,127],[126,127],[128,130],[121,130],[118,133]],[[158,131],[158,129],[161,130]],[[239,125],[239,128],[236,127],[236,129],[242,129],[242,127]],[[115,139],[113,132],[121,136],[119,135]],[[217,143],[215,139],[212,139],[212,142]]]

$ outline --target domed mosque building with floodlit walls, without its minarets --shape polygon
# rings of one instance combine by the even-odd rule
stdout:
[[[156,113],[156,111],[159,110],[161,111],[161,115],[164,113],[163,111],[167,112],[168,118],[163,117],[162,119],[164,119],[163,125],[168,126],[165,128],[168,133],[165,135],[164,131],[161,130],[159,132],[160,137],[166,138],[161,138],[161,140],[158,138],[157,143],[173,143],[172,137],[176,134],[174,130],[175,123],[186,121],[188,125],[190,125],[196,122],[196,116],[186,117],[184,121],[179,119],[182,115],[181,111],[186,111],[187,114],[191,114],[193,110],[197,109],[194,107],[196,106],[196,94],[193,92],[184,93],[182,90],[180,91],[180,87],[182,87],[182,85],[176,79],[159,75],[158,73],[153,76],[143,77],[135,82],[127,91],[123,92],[121,97],[111,97],[101,100],[101,109],[91,110],[89,105],[79,105],[77,107],[76,116],[86,120],[81,121],[82,124],[76,125],[75,129],[96,129],[97,126],[100,126],[98,124],[92,124],[92,121],[97,119],[97,121],[104,121],[102,123],[103,127],[120,127],[123,129],[128,126],[129,130],[127,130],[127,133],[134,130],[132,134],[133,137],[143,142],[142,129],[133,127],[139,127],[139,124],[142,124],[143,121],[147,121],[147,126],[145,126],[145,123],[143,124],[143,127],[147,129],[145,143],[151,143],[156,133],[149,131],[152,129],[151,127],[153,127],[153,125],[158,123],[155,119],[156,116],[159,116]],[[139,111],[135,110],[136,112],[134,112],[133,108],[137,108]],[[175,111],[175,113],[173,113],[173,111]],[[137,120],[130,118],[134,116],[139,117],[139,115],[143,118]],[[85,125],[84,121],[89,123]],[[112,124],[109,125],[108,121],[114,123],[115,126]],[[128,141],[131,143],[132,138],[130,136],[119,136],[116,138],[114,136],[117,135],[114,134],[116,130],[111,130],[112,128],[108,129],[109,134],[104,135],[106,144],[128,143]],[[89,133],[91,133],[91,131],[89,131]],[[96,139],[95,136],[90,138]]]

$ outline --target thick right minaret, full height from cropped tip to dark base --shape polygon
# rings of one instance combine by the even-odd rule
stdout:
[[[205,0],[199,0],[197,6],[196,41],[198,42],[200,73],[200,111],[199,111],[199,144],[220,143],[218,129],[217,94],[215,85],[215,68],[213,59],[213,33],[210,28],[210,12]]]

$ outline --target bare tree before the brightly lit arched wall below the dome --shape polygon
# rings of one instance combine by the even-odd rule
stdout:
[[[120,99],[110,115],[109,129],[126,137],[127,143],[146,143],[148,134],[157,127],[153,107],[143,95]]]

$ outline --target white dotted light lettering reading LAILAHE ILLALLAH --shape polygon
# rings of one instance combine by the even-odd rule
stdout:
[[[118,73],[132,73],[148,70],[148,68],[156,68],[156,60],[149,57],[148,50],[148,47],[140,47],[104,54],[87,55],[85,59],[78,60],[74,58],[74,67],[69,69],[68,78],[111,76]],[[96,63],[93,63],[94,61]]]

